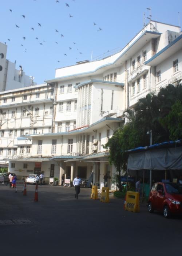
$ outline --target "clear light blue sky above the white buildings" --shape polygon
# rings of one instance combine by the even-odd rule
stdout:
[[[121,50],[143,28],[149,7],[152,20],[182,24],[181,0],[56,1],[0,0],[0,42],[8,45],[7,59],[16,60],[16,69],[21,65],[37,84],[54,79],[56,68]]]

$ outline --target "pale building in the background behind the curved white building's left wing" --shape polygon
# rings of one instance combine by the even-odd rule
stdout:
[[[0,91],[6,91],[25,86],[30,86],[33,77],[25,75],[23,68],[16,69],[16,61],[12,63],[6,59],[7,45],[0,42]]]

